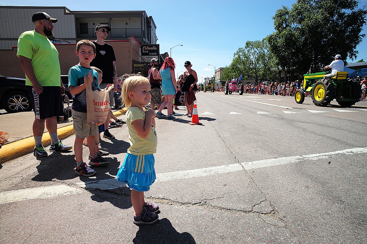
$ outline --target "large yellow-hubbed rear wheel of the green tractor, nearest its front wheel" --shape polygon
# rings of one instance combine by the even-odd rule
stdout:
[[[316,106],[326,107],[334,96],[335,87],[329,79],[321,79],[312,87],[311,98]]]

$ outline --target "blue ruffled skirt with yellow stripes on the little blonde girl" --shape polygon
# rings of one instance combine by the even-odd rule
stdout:
[[[156,180],[153,154],[133,155],[127,153],[117,173],[117,180],[128,184],[135,191],[149,191]]]

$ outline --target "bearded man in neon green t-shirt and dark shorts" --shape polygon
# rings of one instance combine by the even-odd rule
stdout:
[[[60,79],[59,53],[47,37],[57,19],[45,12],[32,15],[34,30],[23,32],[18,39],[17,56],[26,75],[26,85],[31,97],[35,119],[33,136],[35,157],[45,157],[47,152],[42,145],[45,121],[51,137],[50,151],[65,151],[72,147],[62,144],[57,136],[57,116],[62,116],[61,94],[65,87]]]

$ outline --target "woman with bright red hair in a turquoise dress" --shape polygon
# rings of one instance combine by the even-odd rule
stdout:
[[[167,105],[167,119],[175,119],[175,116],[171,115],[173,98],[177,93],[175,68],[176,64],[173,59],[166,57],[157,74],[157,77],[162,79],[162,94],[164,95],[164,102],[157,112],[157,116],[160,118],[163,118],[162,109]]]

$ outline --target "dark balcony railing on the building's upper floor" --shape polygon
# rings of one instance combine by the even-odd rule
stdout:
[[[94,29],[87,29],[87,31],[81,32],[80,29],[76,29],[77,38],[93,38],[95,37]],[[139,28],[113,28],[107,34],[107,37],[117,38],[117,37],[138,37],[141,38],[141,29]]]

